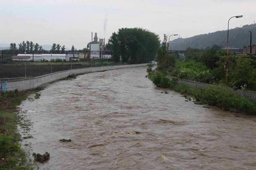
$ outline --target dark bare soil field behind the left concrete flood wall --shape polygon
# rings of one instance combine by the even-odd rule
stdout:
[[[84,65],[72,65],[72,69],[84,68]],[[69,70],[70,65],[52,65],[52,72]],[[50,74],[51,65],[26,65],[26,76],[36,77],[39,75]],[[25,65],[16,64],[0,64],[0,79],[1,78],[16,78],[25,77]]]

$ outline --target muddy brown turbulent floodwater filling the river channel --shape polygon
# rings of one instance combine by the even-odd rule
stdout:
[[[146,67],[79,75],[20,108],[40,169],[255,169],[256,118],[161,93]],[[71,139],[61,143],[59,139]]]

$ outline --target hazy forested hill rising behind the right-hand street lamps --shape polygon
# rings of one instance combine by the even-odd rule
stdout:
[[[243,49],[243,46],[250,45],[250,32],[252,32],[252,45],[256,44],[256,24],[244,25],[243,27],[237,27],[229,30],[229,47]],[[196,35],[189,38],[174,39],[171,43],[175,50],[186,50],[188,46],[193,48],[205,48],[212,45],[220,45],[223,48],[227,46],[227,30],[212,32],[208,34]]]

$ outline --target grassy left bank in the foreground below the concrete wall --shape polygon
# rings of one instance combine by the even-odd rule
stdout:
[[[0,169],[33,169],[32,160],[28,160],[26,152],[21,148],[19,141],[21,136],[17,125],[27,128],[29,122],[21,121],[24,117],[19,115],[17,106],[25,100],[28,95],[36,93],[40,88],[19,92],[17,90],[0,93]],[[35,99],[38,97],[36,93]],[[24,137],[27,138],[27,137]],[[30,138],[30,136],[28,136]]]

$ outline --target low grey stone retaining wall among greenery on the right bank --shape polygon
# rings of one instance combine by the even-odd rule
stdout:
[[[167,77],[169,77],[172,80],[172,76],[167,76]],[[210,85],[210,84],[200,83],[200,82],[196,82],[196,81],[183,80],[183,79],[179,79],[177,81],[177,83],[185,84],[190,87],[199,87],[199,88],[207,88],[209,86],[214,86],[214,85]],[[222,86],[219,86],[219,87],[222,87]],[[256,100],[256,92],[255,91],[241,90],[241,89],[235,90],[230,87],[224,87],[224,88],[231,90],[232,92],[236,93],[239,96],[245,97],[250,100]]]

